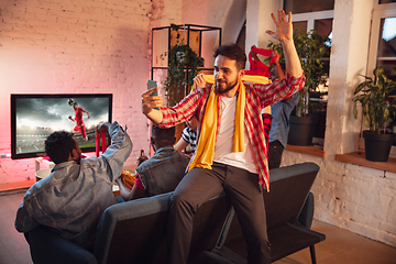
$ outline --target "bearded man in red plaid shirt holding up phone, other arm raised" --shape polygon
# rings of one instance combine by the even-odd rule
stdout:
[[[246,62],[244,51],[237,44],[219,46],[213,54],[215,95],[218,96],[216,112],[218,116],[212,125],[206,121],[204,130],[216,129],[215,141],[211,138],[202,140],[205,136],[201,138],[200,134],[202,120],[209,105],[207,103],[208,98],[212,96],[210,86],[191,92],[173,108],[161,107],[162,97],[150,96],[157,88],[142,95],[142,112],[154,123],[167,128],[196,117],[198,120],[197,152],[200,144],[208,146],[215,144],[213,150],[207,147],[204,151],[206,152],[204,154],[213,155],[210,168],[201,166],[189,168],[189,173],[170,198],[168,263],[187,263],[194,215],[199,206],[223,190],[232,201],[248,242],[248,263],[271,263],[262,196],[262,188],[270,190],[267,141],[264,135],[261,111],[295,94],[302,88],[305,82],[299,57],[293,42],[292,13],[289,13],[288,20],[284,11],[278,11],[278,19],[274,14],[272,18],[276,30],[275,32],[267,31],[267,33],[283,45],[287,76],[271,85],[245,86],[244,133],[242,133],[245,143],[244,152],[233,152],[232,148],[234,132],[240,129],[235,125],[238,118],[235,112],[240,106],[237,98],[239,98],[240,89],[243,89],[240,87],[240,80],[244,75]],[[161,107],[161,109],[155,110],[156,107]],[[209,106],[209,108],[211,107]]]

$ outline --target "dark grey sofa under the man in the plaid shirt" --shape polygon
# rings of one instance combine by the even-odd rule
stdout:
[[[301,224],[298,216],[309,197],[319,167],[296,164],[271,170],[265,199],[273,261],[326,239],[309,229],[314,208]],[[40,263],[155,263],[166,261],[166,220],[172,193],[113,205],[101,216],[92,252],[65,240],[45,227],[25,234],[31,256]],[[245,263],[245,242],[231,202],[222,193],[196,212],[188,263]]]

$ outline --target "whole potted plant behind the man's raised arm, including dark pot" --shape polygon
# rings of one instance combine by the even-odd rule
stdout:
[[[288,134],[288,144],[311,145],[315,133],[315,127],[318,122],[317,114],[309,114],[309,111],[317,108],[315,102],[309,100],[310,94],[316,92],[319,85],[324,85],[326,75],[322,58],[328,57],[330,47],[329,37],[321,36],[315,30],[306,33],[296,31],[293,35],[297,54],[301,62],[301,67],[306,77],[306,84],[299,91],[299,100],[296,106],[295,114],[290,116],[290,131]],[[268,48],[276,50],[279,55],[280,64],[284,62],[283,48],[279,43],[270,42]]]

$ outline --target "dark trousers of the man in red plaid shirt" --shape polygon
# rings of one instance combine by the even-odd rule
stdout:
[[[271,263],[262,188],[245,169],[215,163],[212,169],[193,168],[170,198],[167,263],[187,263],[197,209],[222,190],[230,198],[248,243],[248,263]]]

